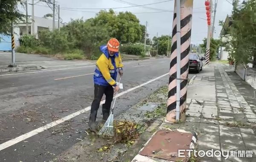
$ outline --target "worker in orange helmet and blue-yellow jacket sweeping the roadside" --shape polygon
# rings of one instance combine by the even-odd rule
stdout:
[[[111,103],[113,101],[113,93],[119,91],[116,84],[117,74],[123,75],[123,64],[119,54],[119,41],[112,38],[107,45],[100,47],[102,55],[96,61],[96,69],[94,71],[94,99],[91,105],[90,118],[88,126],[91,131],[96,133],[96,116],[99,109],[100,101],[105,94],[105,103],[102,105],[102,122],[108,119],[110,115]]]

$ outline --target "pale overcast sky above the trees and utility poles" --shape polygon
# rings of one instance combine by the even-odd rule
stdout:
[[[134,3],[137,5],[144,5],[149,3],[157,3],[166,0],[123,0],[129,3]],[[213,0],[214,3],[215,0]],[[227,14],[231,14],[232,5],[227,2],[231,0],[218,0],[216,18],[215,18],[215,34],[214,38],[217,38],[220,34],[221,27],[218,25],[219,20],[225,20]],[[28,0],[28,3],[31,3],[32,0]],[[38,0],[35,0],[37,3]],[[99,11],[99,9],[95,10],[79,10],[75,8],[118,8],[118,7],[126,7],[131,6],[128,4],[120,3],[115,0],[56,0],[56,2],[60,5],[60,17],[63,22],[69,22],[70,19],[78,19],[84,18],[88,19],[91,17],[95,17],[95,12]],[[193,17],[192,17],[192,44],[200,44],[202,43],[202,39],[207,37],[207,21],[205,13],[205,0],[194,0],[193,5]],[[158,8],[162,10],[173,11],[174,9],[174,0],[158,3],[153,5],[148,5],[146,7]],[[67,8],[73,8],[68,10]],[[23,13],[25,13],[24,9],[21,9]],[[89,12],[88,12],[89,11]],[[140,23],[145,25],[145,22],[148,21],[148,33],[150,37],[161,35],[167,35],[172,32],[172,20],[173,20],[173,12],[159,12],[159,10],[153,10],[142,7],[131,7],[131,8],[118,8],[114,9],[114,11],[131,11],[134,13],[140,20]],[[151,13],[148,13],[151,12]],[[159,12],[159,13],[152,13]],[[39,2],[35,5],[35,16],[43,17],[45,14],[52,13],[52,10],[47,6],[44,2]],[[31,15],[31,5],[28,6],[28,14]],[[56,14],[57,16],[57,14]]]

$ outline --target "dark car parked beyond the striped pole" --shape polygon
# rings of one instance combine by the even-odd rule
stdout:
[[[200,58],[196,53],[189,54],[189,70],[195,70],[200,73],[203,70],[203,59]]]

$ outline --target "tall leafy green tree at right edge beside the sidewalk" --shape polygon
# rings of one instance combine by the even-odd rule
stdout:
[[[241,7],[238,3],[239,0],[234,1],[232,24],[225,28],[232,37],[231,41],[225,43],[225,47],[230,51],[230,59],[247,64],[252,61],[252,56],[256,56],[256,1],[247,0]],[[220,24],[224,27],[223,22]]]

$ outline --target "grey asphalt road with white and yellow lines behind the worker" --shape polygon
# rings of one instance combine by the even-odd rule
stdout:
[[[77,138],[86,137],[94,68],[0,75],[0,162],[47,162],[78,142]],[[115,114],[167,85],[168,72],[169,58],[125,62],[124,89],[116,100]],[[84,113],[70,116],[79,110]],[[67,116],[69,120],[64,121]],[[59,123],[49,126],[55,120]]]

